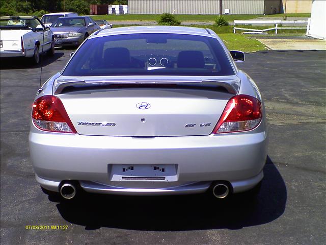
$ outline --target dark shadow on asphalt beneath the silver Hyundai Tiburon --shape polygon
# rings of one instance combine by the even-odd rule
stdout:
[[[49,200],[59,202],[57,208],[65,220],[86,230],[241,229],[269,223],[285,210],[286,186],[269,157],[264,175],[256,199],[249,199],[245,193],[233,195],[227,202],[207,194],[127,197],[87,193],[74,202],[63,201],[58,195],[49,195]]]

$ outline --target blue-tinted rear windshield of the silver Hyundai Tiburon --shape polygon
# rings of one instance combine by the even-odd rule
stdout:
[[[215,38],[145,33],[88,39],[63,75],[229,76],[234,71]]]

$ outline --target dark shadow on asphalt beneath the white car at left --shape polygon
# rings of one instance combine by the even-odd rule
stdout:
[[[0,60],[0,69],[10,70],[10,69],[33,69],[40,68],[41,66],[47,66],[52,62],[55,62],[60,57],[64,55],[63,52],[56,52],[54,56],[47,56],[46,54],[40,55],[39,64],[33,64],[32,59],[15,57],[15,58],[1,58]],[[43,59],[43,60],[42,60]]]

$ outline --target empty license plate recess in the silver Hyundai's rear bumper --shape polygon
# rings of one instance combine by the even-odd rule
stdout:
[[[178,181],[177,164],[109,164],[111,181]]]

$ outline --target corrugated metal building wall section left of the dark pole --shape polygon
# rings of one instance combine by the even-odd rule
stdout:
[[[129,0],[130,14],[219,14],[219,0]]]

